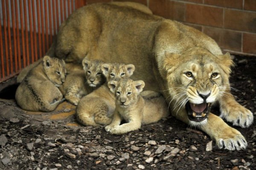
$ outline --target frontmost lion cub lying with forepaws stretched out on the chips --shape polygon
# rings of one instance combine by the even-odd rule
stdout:
[[[105,127],[111,134],[124,134],[140,129],[141,124],[151,124],[169,115],[169,109],[163,96],[152,95],[143,99],[140,95],[144,81],[125,78],[108,82],[108,87],[116,96],[116,109],[113,121]],[[147,91],[145,91],[147,92]],[[157,94],[157,92],[155,92]],[[120,125],[122,120],[128,123]]]

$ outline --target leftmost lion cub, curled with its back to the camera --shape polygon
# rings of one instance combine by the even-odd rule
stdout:
[[[15,98],[25,110],[50,112],[63,101],[58,86],[65,81],[65,62],[44,56],[43,61],[31,69],[18,86]]]

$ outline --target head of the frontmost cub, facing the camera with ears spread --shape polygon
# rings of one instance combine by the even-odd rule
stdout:
[[[108,82],[108,88],[116,96],[116,104],[120,107],[128,107],[136,102],[137,96],[142,92],[144,86],[144,81],[133,81],[131,78]]]

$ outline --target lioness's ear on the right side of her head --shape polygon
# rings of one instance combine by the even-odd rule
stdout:
[[[234,65],[230,53],[227,52],[224,55],[219,55],[218,58],[221,60],[220,61],[220,66],[223,69],[223,71],[227,74],[230,75],[231,72],[231,66]]]

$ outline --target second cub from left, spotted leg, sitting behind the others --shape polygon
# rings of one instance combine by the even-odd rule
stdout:
[[[76,70],[67,75],[65,83],[60,87],[67,101],[77,105],[81,97],[89,94],[105,82],[101,66],[103,61],[82,61],[83,70]]]

